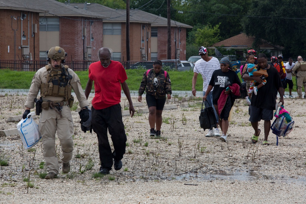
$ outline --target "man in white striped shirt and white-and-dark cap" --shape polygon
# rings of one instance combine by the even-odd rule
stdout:
[[[209,57],[207,49],[203,46],[200,47],[199,49],[199,55],[202,57],[202,59],[199,59],[196,61],[196,64],[194,65],[193,68],[193,78],[192,78],[192,95],[196,96],[196,79],[198,77],[198,74],[200,73],[203,78],[203,96],[205,95],[205,92],[207,90],[208,84],[211,80],[212,73],[216,69],[220,69],[220,62],[216,57]],[[212,104],[212,91],[207,95],[207,102],[209,103],[209,106],[212,106],[214,108],[215,116],[217,119],[217,123],[219,121],[217,112],[215,110],[215,107]],[[218,136],[220,137],[220,131],[217,128],[215,130],[210,129],[208,130],[208,133],[205,135],[205,137],[213,137],[213,136]]]

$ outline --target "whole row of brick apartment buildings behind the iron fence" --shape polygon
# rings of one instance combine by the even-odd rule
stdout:
[[[61,46],[67,60],[97,61],[100,47],[113,50],[113,60],[126,60],[126,10],[95,3],[54,0],[0,2],[0,60],[45,60],[46,51]],[[22,20],[21,20],[22,19]],[[171,58],[186,58],[186,28],[171,20]],[[167,19],[130,10],[130,60],[167,59]]]

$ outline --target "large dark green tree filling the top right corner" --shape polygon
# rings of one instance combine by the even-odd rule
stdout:
[[[304,2],[300,0],[282,1],[281,4],[272,0],[254,0],[247,13],[252,17],[242,19],[244,32],[274,45],[284,46],[284,55],[303,55],[306,52],[304,8]]]

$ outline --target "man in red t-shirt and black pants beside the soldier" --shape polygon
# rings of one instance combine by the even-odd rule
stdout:
[[[89,79],[85,88],[88,98],[95,81],[95,96],[92,99],[91,123],[92,129],[98,136],[99,156],[101,167],[99,173],[109,174],[113,166],[118,171],[122,168],[123,154],[125,154],[126,135],[122,121],[120,98],[121,87],[129,101],[129,111],[133,117],[135,109],[130,96],[129,87],[125,80],[125,69],[118,61],[112,61],[111,51],[107,47],[99,49],[100,61],[89,66]],[[107,129],[114,145],[112,152],[107,136]]]

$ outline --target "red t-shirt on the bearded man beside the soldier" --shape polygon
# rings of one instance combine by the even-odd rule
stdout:
[[[111,61],[108,67],[103,67],[100,61],[89,66],[89,79],[94,81],[95,97],[92,106],[99,110],[120,103],[121,83],[128,79],[125,69],[118,61]]]

